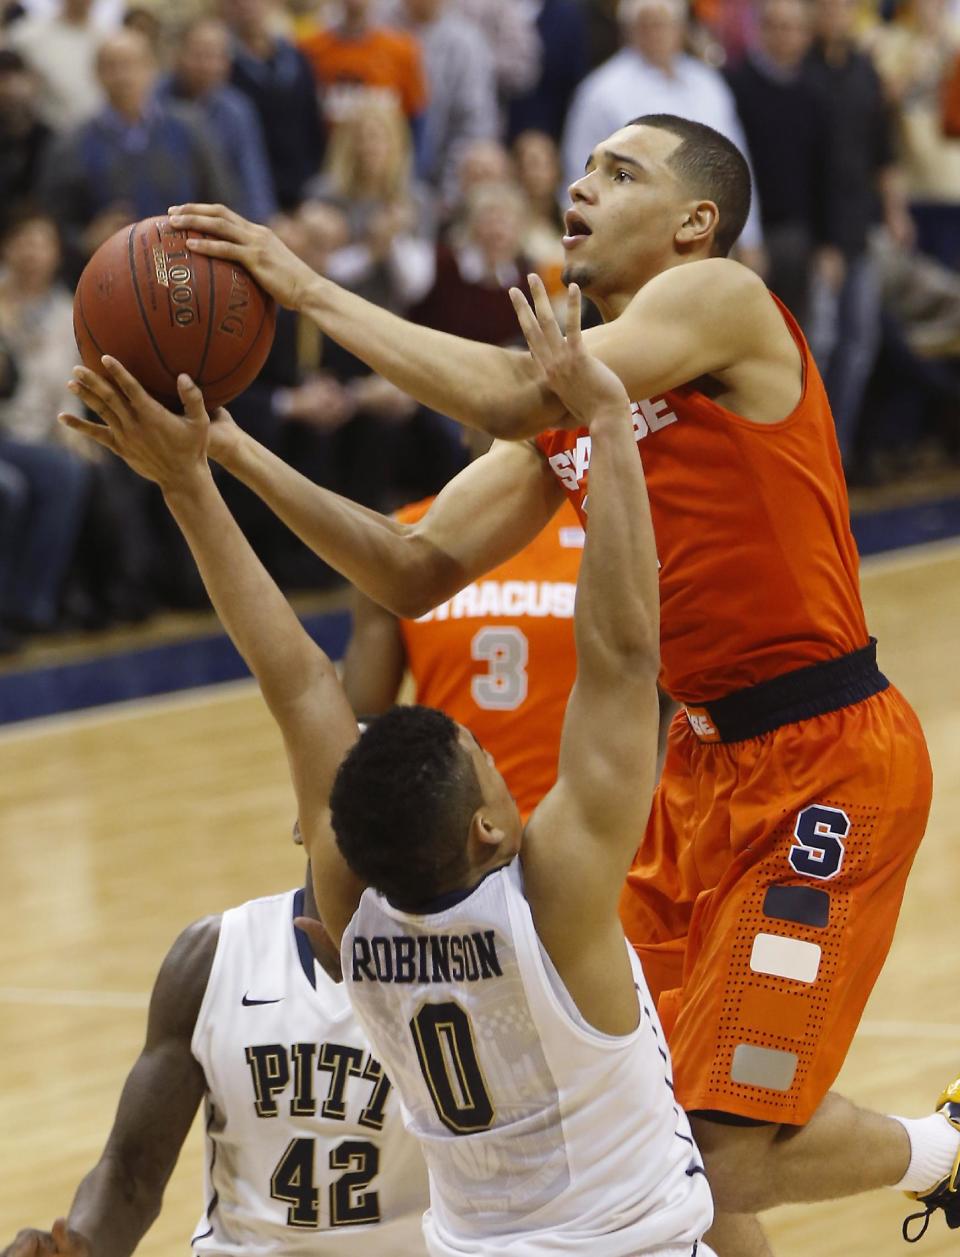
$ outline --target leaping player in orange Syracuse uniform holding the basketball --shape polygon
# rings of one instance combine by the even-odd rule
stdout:
[[[668,114],[584,157],[567,278],[604,319],[584,333],[591,352],[635,402],[662,681],[686,706],[623,919],[707,1155],[710,1241],[721,1257],[758,1257],[769,1247],[756,1212],[883,1184],[960,1224],[960,1105],[908,1123],[829,1091],[890,945],[931,776],[865,625],[817,367],[763,282],[726,256],[750,201],[746,165]],[[222,207],[171,212],[220,238],[196,251],[246,265],[398,387],[505,439],[405,525],[220,429],[215,456],[368,596],[421,615],[523,547],[564,494],[588,513],[588,434],[529,353],[405,323]]]

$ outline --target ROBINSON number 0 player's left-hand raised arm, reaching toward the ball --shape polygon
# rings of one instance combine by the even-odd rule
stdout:
[[[177,381],[182,417],[153,401],[113,358],[109,378],[77,367],[77,392],[107,425],[60,419],[155,480],[196,559],[210,601],[256,678],[283,734],[300,828],[320,887],[320,915],[334,941],[362,886],[337,850],[329,796],[357,722],[333,664],[310,639],[236,524],[206,461],[210,421],[200,390]]]

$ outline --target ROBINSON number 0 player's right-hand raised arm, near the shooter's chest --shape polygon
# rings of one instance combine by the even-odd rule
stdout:
[[[520,322],[550,387],[589,426],[591,461],[574,613],[577,680],[557,784],[528,823],[523,861],[538,933],[586,1014],[592,1001],[604,1007],[603,983],[617,957],[625,963],[617,896],[653,791],[660,593],[627,395],[581,342],[575,287],[565,339],[543,285],[534,294],[538,318],[516,294]],[[598,954],[613,960],[599,963]]]

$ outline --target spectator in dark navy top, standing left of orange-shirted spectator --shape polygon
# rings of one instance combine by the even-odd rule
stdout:
[[[260,116],[280,207],[295,209],[323,158],[313,70],[271,30],[268,0],[221,0],[221,9],[234,34],[234,85]]]

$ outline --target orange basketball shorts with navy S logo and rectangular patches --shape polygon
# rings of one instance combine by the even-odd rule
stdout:
[[[621,918],[686,1110],[810,1117],[890,949],[931,788],[892,686],[738,743],[677,714]]]

